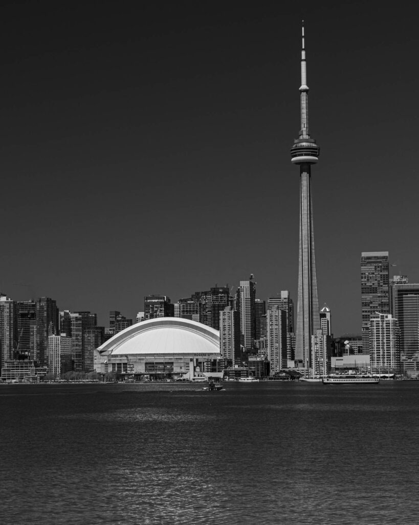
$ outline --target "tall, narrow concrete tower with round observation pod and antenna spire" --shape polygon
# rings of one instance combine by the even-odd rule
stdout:
[[[320,328],[314,260],[311,165],[318,160],[319,147],[308,133],[308,86],[306,80],[304,20],[301,50],[301,129],[291,148],[291,161],[300,166],[300,251],[298,274],[295,359],[310,366],[311,336]]]

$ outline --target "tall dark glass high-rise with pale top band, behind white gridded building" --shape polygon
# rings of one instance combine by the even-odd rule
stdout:
[[[389,253],[361,253],[361,314],[362,351],[369,353],[370,319],[377,313],[390,313]]]

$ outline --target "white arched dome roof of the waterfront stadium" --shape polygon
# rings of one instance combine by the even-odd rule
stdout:
[[[118,354],[219,354],[219,332],[202,323],[160,317],[118,332],[100,348]]]

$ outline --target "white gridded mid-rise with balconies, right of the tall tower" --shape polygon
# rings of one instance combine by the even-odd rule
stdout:
[[[373,369],[400,371],[399,322],[390,313],[376,313],[370,319],[370,362]]]

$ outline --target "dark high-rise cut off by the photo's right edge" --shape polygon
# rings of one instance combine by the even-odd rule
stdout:
[[[419,284],[393,285],[393,316],[399,321],[402,368],[419,372]]]

